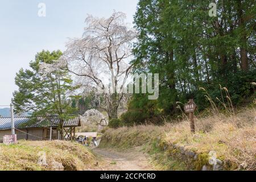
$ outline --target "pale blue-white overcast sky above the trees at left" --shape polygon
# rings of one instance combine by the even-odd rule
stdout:
[[[137,0],[1,0],[0,3],[0,105],[9,105],[15,73],[28,68],[42,49],[65,48],[67,38],[80,37],[87,14],[108,17],[113,10],[127,14],[133,22]],[[39,3],[46,17],[38,16]],[[1,107],[0,107],[1,108]]]

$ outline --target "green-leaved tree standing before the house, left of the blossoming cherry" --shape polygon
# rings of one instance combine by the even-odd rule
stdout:
[[[36,121],[36,117],[49,119],[49,115],[57,115],[60,118],[60,134],[63,136],[63,122],[71,118],[70,114],[74,110],[68,102],[67,92],[75,88],[71,86],[71,77],[65,70],[52,71],[46,75],[40,71],[40,64],[52,64],[61,55],[61,51],[39,52],[35,60],[31,61],[30,69],[20,69],[15,77],[19,89],[13,94],[13,103],[15,113],[30,111],[31,121]]]

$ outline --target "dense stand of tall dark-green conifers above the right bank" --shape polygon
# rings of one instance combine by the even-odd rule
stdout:
[[[217,101],[220,85],[229,90],[234,106],[248,104],[256,78],[255,2],[217,1],[212,17],[210,2],[139,1],[133,71],[159,73],[159,99],[135,94],[123,118],[173,117],[179,113],[176,102],[189,98],[203,110],[209,104],[200,88]]]

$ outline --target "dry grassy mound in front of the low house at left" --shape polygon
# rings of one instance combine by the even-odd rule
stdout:
[[[43,152],[47,165],[38,163]],[[21,140],[10,146],[0,144],[0,170],[86,170],[93,162],[92,152],[72,142]]]

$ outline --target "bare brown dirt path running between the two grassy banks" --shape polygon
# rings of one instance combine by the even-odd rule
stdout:
[[[149,163],[148,157],[137,148],[133,151],[118,152],[114,150],[106,150],[94,148],[96,154],[104,159],[104,164],[98,166],[99,170],[115,170],[115,171],[147,171],[154,170],[154,167]]]

